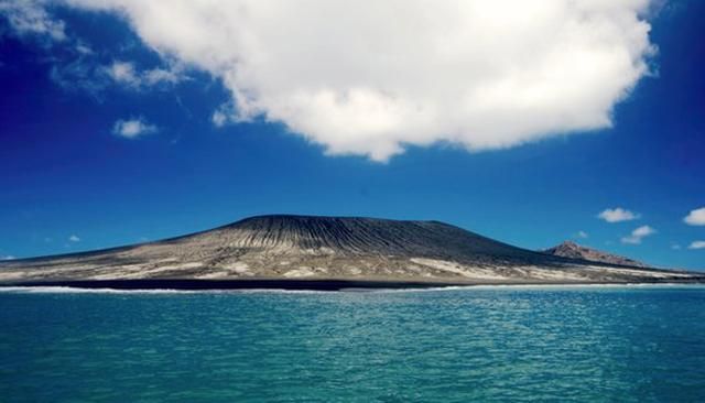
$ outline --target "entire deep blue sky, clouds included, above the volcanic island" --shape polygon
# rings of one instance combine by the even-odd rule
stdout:
[[[302,214],[705,270],[704,13],[0,0],[0,259]]]

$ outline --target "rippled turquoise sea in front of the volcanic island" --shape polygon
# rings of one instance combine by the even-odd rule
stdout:
[[[2,402],[705,401],[705,287],[0,292]]]

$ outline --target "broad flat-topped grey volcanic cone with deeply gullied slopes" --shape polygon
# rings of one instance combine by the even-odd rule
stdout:
[[[422,284],[699,282],[534,252],[438,221],[260,216],[156,242],[0,263],[0,283],[178,280]]]

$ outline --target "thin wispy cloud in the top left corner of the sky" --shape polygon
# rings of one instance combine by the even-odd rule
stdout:
[[[58,42],[66,40],[64,22],[48,14],[45,1],[0,0],[0,17],[4,17],[19,35],[39,34]]]

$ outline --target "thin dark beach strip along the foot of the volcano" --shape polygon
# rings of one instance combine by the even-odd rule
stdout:
[[[687,285],[705,284],[705,276],[687,281],[625,281],[625,282],[424,282],[392,280],[345,280],[345,279],[257,279],[257,280],[199,280],[199,279],[138,279],[138,280],[65,280],[1,283],[1,288],[10,287],[69,287],[80,290],[117,291],[227,291],[227,290],[285,290],[285,291],[345,291],[345,290],[427,290],[473,286],[570,286],[570,285]]]

